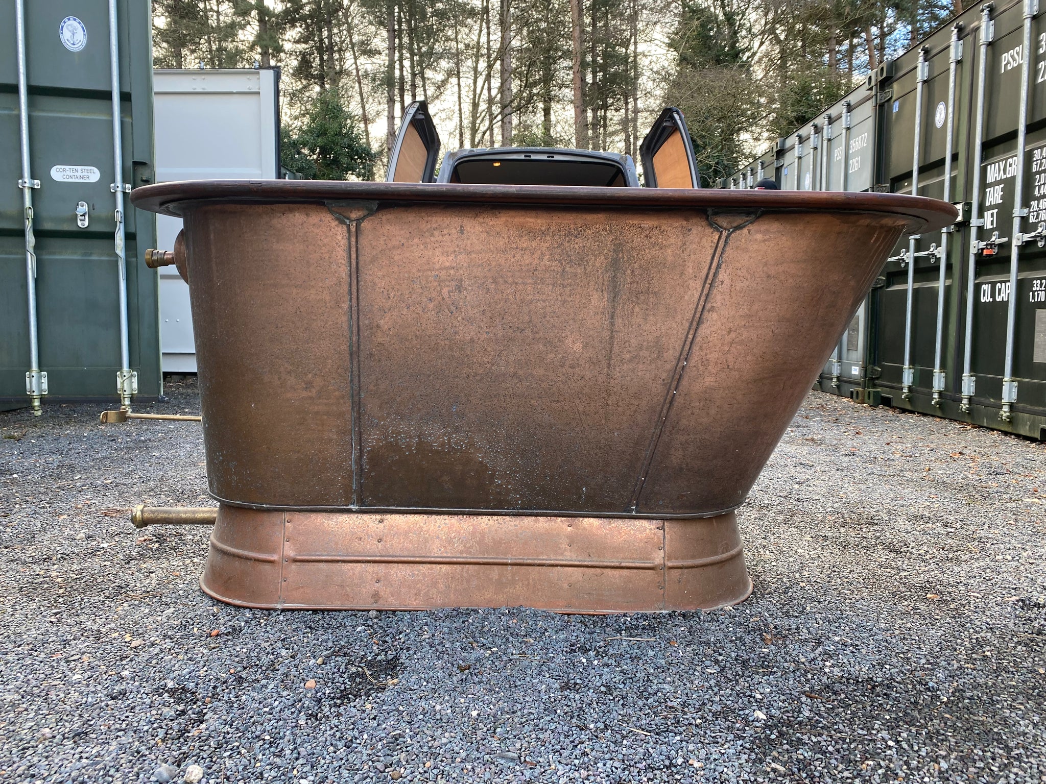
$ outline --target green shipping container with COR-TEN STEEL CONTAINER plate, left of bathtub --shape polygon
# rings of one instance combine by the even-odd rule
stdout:
[[[161,393],[152,62],[147,3],[0,3],[0,408]]]

